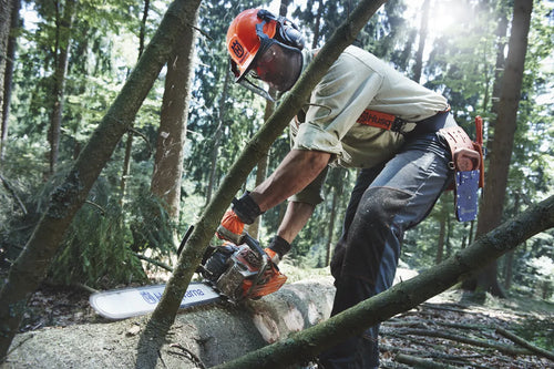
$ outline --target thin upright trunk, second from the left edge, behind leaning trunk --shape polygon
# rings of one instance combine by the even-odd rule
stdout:
[[[66,0],[63,16],[60,18],[60,3],[55,6],[55,48],[54,48],[54,74],[52,81],[52,111],[50,114],[50,129],[48,141],[50,142],[50,172],[55,172],[58,156],[60,154],[60,135],[62,127],[63,99],[65,93],[65,75],[68,74],[69,50],[71,44],[71,28],[75,14],[75,0]]]

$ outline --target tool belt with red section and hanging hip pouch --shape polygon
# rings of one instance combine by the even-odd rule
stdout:
[[[452,154],[450,167],[454,171],[454,182],[447,189],[454,191],[454,206],[458,221],[468,222],[476,218],[479,208],[479,188],[484,186],[483,163],[483,120],[475,117],[476,137],[473,142],[460,126],[444,127],[450,106],[428,117],[416,122],[416,127],[404,132],[407,121],[392,114],[367,109],[358,117],[357,123],[381,130],[402,133],[412,136],[438,132],[444,139]]]

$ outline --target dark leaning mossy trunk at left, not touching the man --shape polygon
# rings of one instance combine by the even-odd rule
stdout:
[[[110,160],[122,135],[146,94],[167,62],[182,29],[193,23],[199,0],[176,0],[164,16],[160,28],[136,68],[123,85],[110,110],[79,155],[65,181],[54,189],[24,250],[12,265],[0,290],[0,358],[6,356],[21,321],[24,304],[40,285],[75,213]]]

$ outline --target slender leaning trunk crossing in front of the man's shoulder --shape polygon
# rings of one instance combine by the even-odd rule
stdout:
[[[324,45],[321,52],[308,65],[293,90],[283,99],[279,107],[247,143],[238,158],[230,166],[216,195],[199,216],[188,242],[181,253],[164,295],[141,336],[137,366],[144,368],[155,366],[157,361],[156,352],[175,319],[186,287],[202,260],[204,249],[212,239],[233,196],[238,192],[256,163],[267,153],[273,142],[285,130],[294,114],[300,110],[321,76],[340,53],[352,43],[361,28],[367,24],[369,18],[384,2],[386,0],[362,0],[359,2],[349,19],[337,28],[329,42]]]

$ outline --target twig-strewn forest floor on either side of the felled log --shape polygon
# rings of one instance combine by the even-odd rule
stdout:
[[[80,288],[43,286],[29,300],[22,331],[105,324]],[[554,304],[530,298],[481,304],[445,291],[381,326],[382,368],[554,368],[554,361],[506,338],[504,330],[554,355]]]

